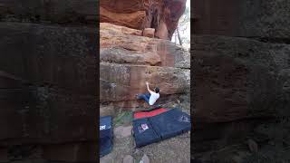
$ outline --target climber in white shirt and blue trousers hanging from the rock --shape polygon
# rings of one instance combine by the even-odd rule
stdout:
[[[136,97],[138,100],[144,100],[147,103],[149,103],[150,106],[154,105],[154,103],[160,98],[160,89],[158,87],[155,87],[153,91],[150,91],[149,83],[146,82],[147,90],[150,93],[144,93],[144,94],[136,94]]]

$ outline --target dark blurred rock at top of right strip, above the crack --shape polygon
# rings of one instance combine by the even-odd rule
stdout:
[[[290,37],[290,4],[287,0],[197,0],[193,12],[196,34],[266,37]]]

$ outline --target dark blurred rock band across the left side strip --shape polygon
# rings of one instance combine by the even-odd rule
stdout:
[[[96,95],[87,87],[96,85],[94,34],[88,27],[0,23],[0,49],[5,52],[0,54],[0,70],[23,82]]]

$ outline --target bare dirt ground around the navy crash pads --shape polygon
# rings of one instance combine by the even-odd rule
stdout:
[[[189,101],[174,101],[163,107],[169,109],[178,107],[190,114]],[[114,117],[113,123],[114,129],[131,126],[131,111],[121,111]],[[100,161],[101,163],[122,163],[123,158],[130,155],[134,163],[140,163],[144,154],[150,158],[150,163],[188,163],[190,162],[190,132],[139,149],[135,149],[132,135],[126,137],[114,135],[111,153],[100,158]]]

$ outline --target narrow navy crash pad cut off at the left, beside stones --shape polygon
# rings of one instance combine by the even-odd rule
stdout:
[[[100,157],[107,155],[112,149],[111,116],[100,117]]]

